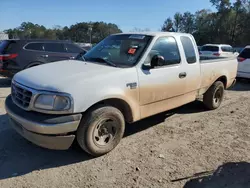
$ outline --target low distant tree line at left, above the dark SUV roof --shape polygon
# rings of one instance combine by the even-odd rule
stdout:
[[[23,22],[19,27],[5,30],[9,38],[59,39],[86,43],[90,40],[92,43],[97,43],[110,34],[120,32],[122,31],[116,24],[105,22],[81,22],[70,27],[56,25],[52,29],[31,22]]]

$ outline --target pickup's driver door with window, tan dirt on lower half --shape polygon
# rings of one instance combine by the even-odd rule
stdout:
[[[183,104],[185,93],[185,65],[182,64],[174,37],[159,38],[150,51],[145,66],[154,55],[164,57],[164,64],[154,68],[139,69],[140,111],[145,118]]]

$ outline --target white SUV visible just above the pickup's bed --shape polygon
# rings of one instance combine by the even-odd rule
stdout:
[[[206,44],[200,50],[200,56],[205,57],[231,57],[237,56],[230,45],[224,44]]]

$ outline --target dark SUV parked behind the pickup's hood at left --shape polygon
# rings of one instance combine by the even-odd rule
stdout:
[[[86,50],[70,41],[4,40],[0,43],[0,75],[12,77],[33,66],[74,59]]]

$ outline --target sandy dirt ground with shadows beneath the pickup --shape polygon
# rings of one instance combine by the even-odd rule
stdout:
[[[9,81],[7,81],[9,82]],[[0,187],[250,187],[250,83],[226,92],[206,111],[194,102],[127,126],[111,153],[52,151],[23,139],[9,125],[0,88]]]

